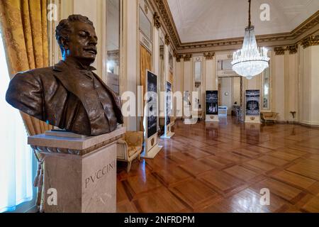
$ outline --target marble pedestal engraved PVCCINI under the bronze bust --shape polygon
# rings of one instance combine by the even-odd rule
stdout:
[[[42,210],[116,212],[116,143],[124,133],[125,128],[118,128],[85,138],[54,131],[29,137],[28,144],[44,160]]]

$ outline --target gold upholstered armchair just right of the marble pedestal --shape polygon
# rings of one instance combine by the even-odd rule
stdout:
[[[143,132],[127,131],[124,140],[118,141],[117,160],[128,162],[127,172],[130,172],[130,166],[133,160],[142,153]]]

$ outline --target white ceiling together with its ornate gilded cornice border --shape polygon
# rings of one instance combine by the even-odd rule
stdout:
[[[149,0],[157,22],[179,53],[240,48],[248,23],[247,0]],[[269,4],[270,21],[261,21],[261,4]],[[252,0],[257,42],[295,46],[319,33],[319,0]]]

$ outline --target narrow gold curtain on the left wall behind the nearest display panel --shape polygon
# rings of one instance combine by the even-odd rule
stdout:
[[[143,87],[142,106],[144,110],[145,73],[146,70],[152,70],[152,55],[146,48],[140,45],[140,85]],[[140,121],[140,131],[144,131],[143,118]]]

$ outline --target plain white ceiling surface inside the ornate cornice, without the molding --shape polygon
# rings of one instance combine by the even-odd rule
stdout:
[[[181,43],[242,37],[248,24],[247,0],[167,0]],[[269,4],[270,21],[259,18]],[[252,0],[256,35],[289,33],[319,9],[319,0]]]

